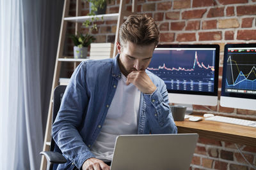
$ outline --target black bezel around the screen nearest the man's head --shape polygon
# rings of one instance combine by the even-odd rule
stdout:
[[[215,70],[214,70],[214,90],[213,92],[198,92],[198,91],[185,91],[185,90],[170,90],[167,89],[168,93],[174,94],[192,94],[192,95],[201,95],[201,96],[218,96],[218,81],[219,81],[219,63],[220,63],[220,45],[202,45],[202,44],[193,44],[193,45],[178,45],[178,44],[164,44],[157,45],[156,48],[215,48]]]

